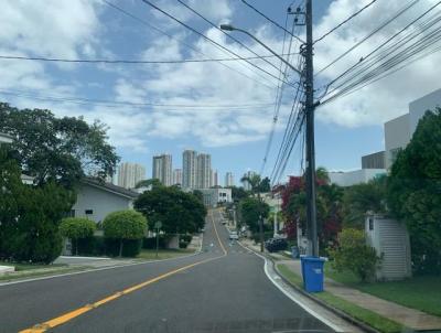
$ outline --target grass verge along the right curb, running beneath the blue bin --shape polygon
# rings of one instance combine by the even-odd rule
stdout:
[[[327,291],[313,294],[308,293],[303,290],[302,278],[294,273],[287,265],[278,264],[275,265],[275,267],[278,273],[283,278],[283,280],[290,283],[293,288],[295,288],[306,297],[313,299],[314,301],[319,302],[320,304],[324,305],[325,308],[330,309],[334,313],[358,325],[366,332],[395,333],[406,330],[404,325],[392,320],[389,320],[370,310],[358,307]]]

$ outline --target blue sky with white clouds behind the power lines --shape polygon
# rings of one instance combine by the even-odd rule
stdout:
[[[0,21],[0,55],[107,60],[187,60],[230,57],[207,41],[185,30],[141,0],[107,0],[173,37],[115,10],[100,0],[53,0],[45,6],[35,1],[6,1]],[[152,0],[165,11],[243,56],[251,56],[243,46],[192,14],[174,0]],[[234,23],[247,29],[281,53],[283,32],[237,0],[186,0],[189,6],[216,24]],[[303,1],[249,0],[280,24],[291,3]],[[335,26],[369,1],[315,0],[314,34]],[[321,68],[398,10],[399,0],[374,4],[315,46],[315,68]],[[359,50],[316,77],[321,87],[399,29],[411,15],[424,10],[432,0],[422,1],[413,12],[366,42]],[[291,20],[291,17],[290,17]],[[291,26],[291,25],[289,25]],[[298,28],[300,36],[304,35]],[[234,33],[258,54],[268,54],[247,36]],[[191,49],[190,49],[190,47]],[[292,51],[298,51],[298,45]],[[316,111],[316,164],[330,170],[361,166],[361,157],[384,149],[383,123],[407,111],[409,101],[439,88],[433,64],[439,55],[424,58],[355,94]],[[279,63],[270,58],[275,65]],[[277,75],[261,61],[256,65]],[[83,115],[109,126],[109,139],[122,161],[142,163],[151,175],[152,155],[168,152],[173,166],[181,168],[182,151],[195,149],[212,154],[213,169],[220,182],[227,171],[236,180],[247,170],[259,171],[271,128],[277,82],[256,68],[238,62],[128,65],[60,64],[1,61],[0,98],[18,107],[44,107],[56,115]],[[232,68],[234,71],[232,71]],[[240,72],[238,74],[237,72]],[[248,76],[245,77],[244,75]],[[295,82],[295,74],[289,73]],[[250,79],[251,77],[252,79]],[[408,77],[412,77],[409,80]],[[263,84],[265,85],[263,85]],[[286,88],[268,157],[265,175],[271,172],[288,119],[293,89]],[[47,97],[104,99],[118,106],[72,104]],[[130,107],[125,103],[162,104]],[[261,105],[265,108],[213,108],[222,105]],[[193,106],[190,108],[174,105]],[[286,174],[298,173],[300,150],[294,148]]]

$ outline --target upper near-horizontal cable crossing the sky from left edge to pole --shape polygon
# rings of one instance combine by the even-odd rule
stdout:
[[[281,54],[291,55],[299,53]],[[189,58],[174,61],[136,61],[136,60],[74,60],[60,57],[42,57],[42,56],[18,56],[18,55],[0,55],[0,60],[19,60],[19,61],[41,61],[41,62],[57,62],[57,63],[86,63],[86,64],[183,64],[183,63],[211,63],[211,62],[234,62],[241,60],[261,60],[267,57],[276,57],[276,55],[259,55],[248,57],[220,57],[220,58]]]

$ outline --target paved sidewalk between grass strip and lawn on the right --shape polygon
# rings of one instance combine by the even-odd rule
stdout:
[[[300,260],[284,259],[278,261],[278,264],[286,265],[292,272],[299,277],[302,276]],[[338,298],[357,304],[361,308],[376,312],[412,330],[441,330],[441,318],[361,292],[356,289],[335,282],[326,277],[324,279],[324,289]]]

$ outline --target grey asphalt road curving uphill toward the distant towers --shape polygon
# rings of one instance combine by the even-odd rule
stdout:
[[[0,332],[25,329],[332,332],[272,284],[261,258],[228,241],[218,212],[200,255],[1,286]]]

